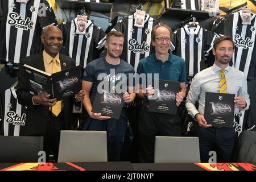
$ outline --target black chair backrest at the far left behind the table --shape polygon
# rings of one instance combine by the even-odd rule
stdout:
[[[38,162],[43,137],[0,136],[0,163]]]

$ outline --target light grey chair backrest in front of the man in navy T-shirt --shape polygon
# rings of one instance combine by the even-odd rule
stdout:
[[[106,131],[61,131],[58,162],[107,162]]]

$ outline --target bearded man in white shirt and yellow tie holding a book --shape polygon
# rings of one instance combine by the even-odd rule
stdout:
[[[199,137],[201,162],[208,163],[209,152],[216,151],[218,163],[230,162],[236,132],[234,128],[212,127],[204,118],[205,92],[236,94],[234,104],[240,110],[250,105],[247,81],[243,72],[230,67],[234,42],[229,36],[221,36],[213,44],[215,62],[193,78],[188,92],[186,107],[195,118],[195,136]],[[195,102],[199,101],[199,109]]]

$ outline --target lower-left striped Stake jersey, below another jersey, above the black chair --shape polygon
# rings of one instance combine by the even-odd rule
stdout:
[[[5,90],[1,96],[3,115],[1,117],[1,135],[21,136],[22,127],[26,127],[26,107],[18,103],[15,87]]]

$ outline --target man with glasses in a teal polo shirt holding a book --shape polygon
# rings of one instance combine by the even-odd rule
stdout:
[[[179,106],[185,97],[186,65],[184,59],[173,55],[171,46],[172,31],[166,24],[158,24],[152,28],[151,40],[155,52],[139,61],[137,73],[159,74],[161,80],[180,82],[180,91],[176,94],[176,105]],[[154,75],[152,75],[154,78]],[[148,98],[154,95],[152,85],[143,90],[140,85],[138,97],[144,99],[139,113],[139,160],[141,163],[154,163],[155,136],[180,136],[181,121],[176,114],[160,114],[148,111]]]

